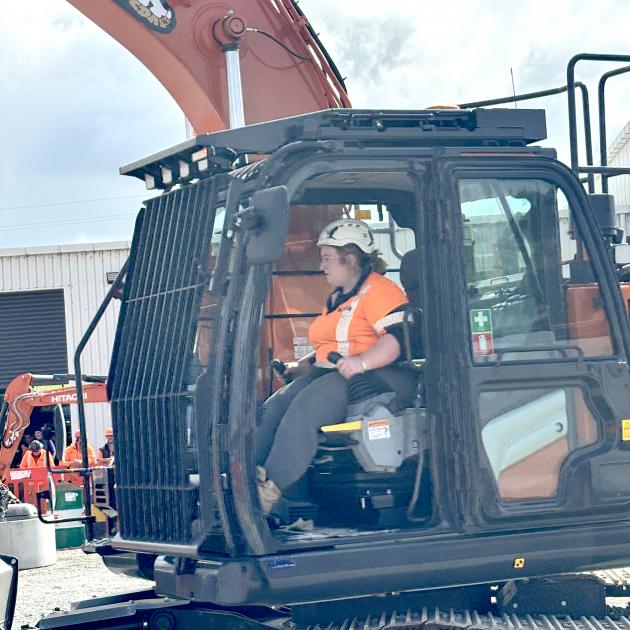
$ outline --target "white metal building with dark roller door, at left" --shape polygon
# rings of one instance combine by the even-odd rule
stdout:
[[[74,350],[129,247],[119,241],[0,250],[0,391],[22,372],[74,372]],[[118,308],[114,300],[85,349],[85,374],[107,374]],[[88,438],[98,448],[111,423],[109,406],[88,405],[86,412]],[[76,405],[71,417],[74,429]]]

